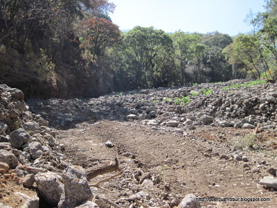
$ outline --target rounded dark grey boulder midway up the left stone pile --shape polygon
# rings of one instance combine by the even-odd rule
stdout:
[[[23,128],[19,128],[10,133],[9,142],[14,148],[21,148],[30,140],[30,135]]]

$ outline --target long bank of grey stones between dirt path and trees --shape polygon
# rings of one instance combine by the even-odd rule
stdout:
[[[91,99],[30,99],[34,112],[44,114],[56,128],[89,118],[136,121],[157,129],[193,130],[198,125],[223,128],[275,129],[277,85],[246,85],[231,80],[195,86],[142,89]],[[230,88],[230,86],[238,86]],[[210,90],[208,92],[208,90]],[[187,103],[182,99],[188,97]],[[57,112],[57,109],[59,112]],[[51,118],[51,114],[56,114]],[[181,129],[180,129],[181,128]]]

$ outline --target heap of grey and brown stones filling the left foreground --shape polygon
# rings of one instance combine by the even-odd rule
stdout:
[[[75,108],[84,109],[78,105],[80,103],[74,103]],[[150,114],[152,111],[155,112],[154,108],[147,112]],[[64,145],[57,143],[55,135],[55,130],[48,127],[48,121],[40,114],[30,112],[24,102],[24,94],[19,89],[0,85],[0,176],[10,177],[26,188],[37,187],[39,193],[39,197],[30,197],[16,192],[17,196],[24,199],[22,207],[39,207],[39,203],[42,203],[40,200],[44,201],[44,206],[59,208],[119,207],[120,204],[129,204],[130,200],[130,207],[139,205],[135,206],[134,200],[144,200],[154,205],[151,196],[145,191],[139,191],[129,198],[120,198],[117,204],[100,198],[95,193],[96,189],[89,186],[84,168],[63,162],[61,150]],[[149,177],[150,173],[141,175],[141,186],[153,186]],[[200,207],[192,194],[184,200],[172,198],[168,206],[178,204],[180,207]],[[10,206],[0,203],[0,207]]]

